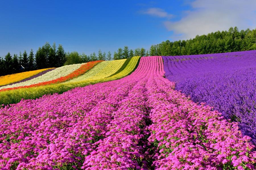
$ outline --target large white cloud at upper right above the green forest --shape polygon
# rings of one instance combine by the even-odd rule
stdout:
[[[195,0],[190,5],[192,10],[180,20],[164,22],[165,27],[174,32],[174,40],[190,39],[235,26],[240,30],[256,28],[255,0]]]

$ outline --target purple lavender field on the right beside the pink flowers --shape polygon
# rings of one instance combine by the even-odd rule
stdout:
[[[176,90],[238,122],[256,144],[256,50],[163,56],[165,76]]]

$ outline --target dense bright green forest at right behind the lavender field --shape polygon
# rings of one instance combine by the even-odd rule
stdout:
[[[171,42],[164,41],[152,45],[150,56],[180,56],[210,54],[234,51],[256,50],[256,29],[238,31],[230,27],[228,31],[216,31],[207,35],[197,35],[193,39]]]

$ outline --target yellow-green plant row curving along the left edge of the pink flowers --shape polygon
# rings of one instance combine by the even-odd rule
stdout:
[[[125,65],[125,67],[122,66],[123,70],[118,70],[117,74],[114,74],[113,76],[110,76],[107,78],[96,79],[96,80],[84,80],[79,82],[68,82],[68,83],[65,82],[65,83],[52,84],[47,86],[3,91],[3,92],[0,92],[0,104],[8,105],[12,103],[18,103],[21,99],[36,99],[46,94],[54,94],[54,93],[62,94],[63,92],[66,92],[76,87],[84,87],[89,84],[96,84],[99,82],[117,80],[133,72],[137,67],[139,59],[140,59],[139,56],[129,59],[128,63],[123,64]]]

